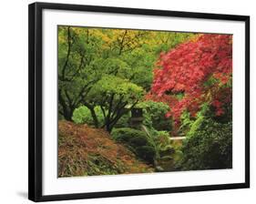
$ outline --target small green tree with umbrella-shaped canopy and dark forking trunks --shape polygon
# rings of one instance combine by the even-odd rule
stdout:
[[[88,93],[89,103],[101,107],[104,127],[110,132],[118,119],[128,113],[145,94],[138,87],[118,76],[102,76]]]

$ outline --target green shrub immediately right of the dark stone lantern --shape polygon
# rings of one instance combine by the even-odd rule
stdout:
[[[145,101],[138,104],[138,107],[143,108],[143,124],[148,128],[156,130],[171,130],[172,121],[165,117],[169,111],[169,106],[162,102]]]

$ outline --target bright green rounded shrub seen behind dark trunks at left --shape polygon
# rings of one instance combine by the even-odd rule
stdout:
[[[97,115],[99,126],[102,126],[104,123],[104,117],[103,117],[102,111],[100,107],[95,107],[94,110]],[[77,124],[86,123],[89,126],[94,126],[94,120],[93,120],[93,117],[91,116],[91,112],[85,106],[77,107],[74,110],[72,120]]]

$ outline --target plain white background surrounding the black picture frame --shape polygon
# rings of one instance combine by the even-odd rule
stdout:
[[[27,200],[27,5],[2,1],[0,6],[0,203]],[[56,3],[108,5],[178,11],[251,15],[251,189],[216,190],[55,203],[254,203],[255,180],[255,5],[251,0],[55,0]]]

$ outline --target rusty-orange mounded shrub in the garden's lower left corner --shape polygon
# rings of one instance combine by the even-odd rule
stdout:
[[[58,177],[153,172],[103,129],[58,122]]]

